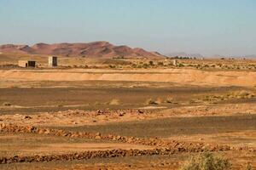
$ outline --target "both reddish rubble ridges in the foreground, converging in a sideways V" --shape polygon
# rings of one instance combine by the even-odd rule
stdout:
[[[203,144],[203,143],[186,143],[179,141],[165,141],[161,139],[139,139],[133,137],[122,137],[116,135],[102,135],[101,133],[77,133],[66,132],[64,130],[49,129],[44,127],[33,126],[16,126],[0,124],[0,132],[3,133],[39,133],[68,138],[87,138],[116,141],[128,144],[143,144],[155,146],[158,148],[151,150],[94,150],[84,151],[73,154],[49,155],[49,156],[11,156],[0,157],[0,164],[14,162],[32,162],[32,161],[57,161],[57,160],[80,160],[91,158],[107,158],[119,156],[154,156],[154,155],[172,155],[181,152],[201,152],[201,151],[228,151],[228,150],[247,150],[247,148],[231,148],[228,145]],[[254,150],[249,150],[254,151]]]

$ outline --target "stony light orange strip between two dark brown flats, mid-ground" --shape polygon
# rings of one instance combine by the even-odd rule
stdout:
[[[170,117],[254,115],[256,105],[197,105],[163,109],[158,106],[144,107],[144,110],[83,111],[69,110],[41,112],[37,114],[0,115],[1,122],[34,126],[84,126],[102,125],[113,122],[146,121]],[[156,109],[156,110],[154,110]]]

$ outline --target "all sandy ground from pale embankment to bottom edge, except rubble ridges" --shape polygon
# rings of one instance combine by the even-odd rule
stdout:
[[[0,70],[0,80],[0,123],[50,127],[75,133],[256,148],[254,94],[250,94],[250,98],[228,98],[226,95],[232,90],[253,92],[255,71],[7,69]],[[89,88],[78,88],[81,86]],[[94,86],[97,88],[92,88]],[[207,95],[213,100],[204,100]],[[173,102],[167,104],[164,100],[168,97]],[[163,102],[159,105],[145,104],[145,100],[150,98],[161,98]],[[110,105],[113,99],[119,99],[119,102]],[[10,105],[3,105],[8,102]],[[2,156],[151,148],[102,139],[14,132],[0,133],[0,142]],[[255,152],[251,150],[230,150],[217,154],[228,157],[234,169],[244,168],[247,162],[256,167]],[[177,169],[192,155],[180,153],[174,156],[42,161],[0,165],[0,168]]]

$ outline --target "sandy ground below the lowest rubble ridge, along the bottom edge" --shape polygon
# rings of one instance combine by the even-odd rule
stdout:
[[[178,169],[191,154],[175,154],[172,156],[138,156],[138,157],[122,157],[122,158],[109,158],[109,159],[95,159],[88,161],[55,161],[55,162],[37,162],[37,163],[16,163],[0,165],[3,169],[12,170],[19,169],[44,169],[44,170],[126,170],[126,169]],[[247,162],[252,162],[253,168],[256,167],[256,163],[253,160],[256,156],[247,152],[228,152],[221,153],[223,157],[230,157],[233,166],[232,170],[245,169]]]

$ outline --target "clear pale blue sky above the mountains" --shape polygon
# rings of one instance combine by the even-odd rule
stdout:
[[[0,44],[95,41],[162,54],[256,54],[256,1],[0,0]]]

